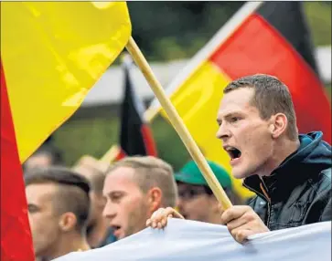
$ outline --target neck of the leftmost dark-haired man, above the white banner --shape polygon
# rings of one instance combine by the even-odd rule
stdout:
[[[86,251],[89,249],[91,249],[91,247],[88,244],[85,235],[80,235],[78,233],[66,234],[59,238],[59,245],[57,249],[46,257],[49,260],[52,260],[71,252]]]

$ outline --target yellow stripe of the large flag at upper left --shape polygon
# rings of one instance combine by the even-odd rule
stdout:
[[[80,107],[131,30],[124,2],[1,3],[1,58],[21,162]]]

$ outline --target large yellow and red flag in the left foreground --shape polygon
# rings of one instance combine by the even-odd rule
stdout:
[[[1,3],[1,260],[35,260],[21,163],[80,107],[130,35],[125,3]]]

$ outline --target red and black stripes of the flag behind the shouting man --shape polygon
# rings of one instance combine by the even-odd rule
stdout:
[[[230,78],[265,73],[289,87],[299,131],[331,142],[330,104],[319,80],[301,2],[271,2],[248,17],[211,57]]]

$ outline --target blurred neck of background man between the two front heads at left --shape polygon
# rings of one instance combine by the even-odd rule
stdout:
[[[88,235],[88,242],[91,247],[98,247],[108,235],[109,221],[102,216],[92,225]]]

